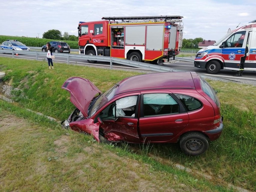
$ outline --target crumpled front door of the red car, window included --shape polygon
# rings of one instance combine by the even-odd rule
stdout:
[[[100,134],[110,141],[139,143],[138,134],[139,94],[118,98],[100,113]]]

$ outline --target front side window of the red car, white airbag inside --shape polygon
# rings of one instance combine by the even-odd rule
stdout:
[[[117,99],[100,112],[102,120],[115,119],[117,117],[135,117],[138,96],[128,96]]]

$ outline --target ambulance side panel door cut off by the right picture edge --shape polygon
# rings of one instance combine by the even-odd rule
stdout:
[[[256,31],[249,32],[248,53],[245,60],[245,70],[256,70]]]

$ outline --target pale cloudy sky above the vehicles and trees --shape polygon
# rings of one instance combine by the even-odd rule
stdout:
[[[217,41],[229,28],[256,20],[256,1],[0,0],[0,35],[42,38],[57,29],[78,36],[79,21],[160,15],[182,16],[183,38]]]

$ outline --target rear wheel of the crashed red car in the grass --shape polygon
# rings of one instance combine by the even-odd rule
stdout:
[[[208,149],[208,146],[208,140],[202,133],[185,133],[180,139],[180,148],[187,155],[203,154]]]

